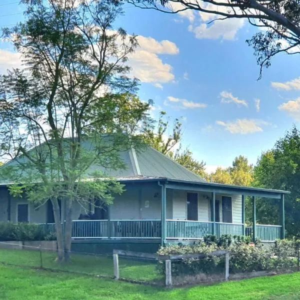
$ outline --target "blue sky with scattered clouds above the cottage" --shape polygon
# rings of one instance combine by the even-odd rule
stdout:
[[[22,19],[16,14],[22,7],[13,2],[1,0],[0,26]],[[124,11],[116,25],[140,35],[140,47],[129,59],[141,80],[140,98],[154,100],[154,115],[165,110],[171,119],[182,117],[183,146],[208,171],[228,166],[239,154],[255,163],[300,120],[300,56],[274,57],[257,81],[259,68],[245,43],[256,29],[246,22],[206,25],[208,15],[171,15],[129,4]],[[11,51],[0,43],[0,72],[16,66]]]

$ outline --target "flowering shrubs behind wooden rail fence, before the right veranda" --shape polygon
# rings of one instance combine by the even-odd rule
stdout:
[[[257,239],[251,243],[248,236],[206,235],[203,242],[189,245],[168,245],[158,249],[159,255],[204,253],[205,258],[182,258],[172,262],[174,274],[221,273],[224,271],[224,257],[211,256],[208,253],[226,249],[229,252],[229,272],[252,272],[288,268],[296,266],[294,259],[298,241],[277,240],[271,248],[264,247]],[[158,265],[161,272],[164,268]]]

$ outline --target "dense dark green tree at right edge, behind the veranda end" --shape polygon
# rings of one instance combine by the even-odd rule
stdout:
[[[261,154],[254,167],[256,186],[289,190],[285,195],[285,229],[289,235],[300,234],[300,131],[296,126],[279,138],[274,147]],[[258,201],[257,201],[258,202]],[[276,222],[278,200],[257,203],[258,220]]]

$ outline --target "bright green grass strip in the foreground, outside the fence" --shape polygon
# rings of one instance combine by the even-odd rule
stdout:
[[[167,290],[112,279],[0,265],[3,300],[295,300],[300,273]]]

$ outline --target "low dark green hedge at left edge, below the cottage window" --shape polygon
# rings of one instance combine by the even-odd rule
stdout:
[[[55,234],[38,224],[0,222],[0,240],[54,240]]]

